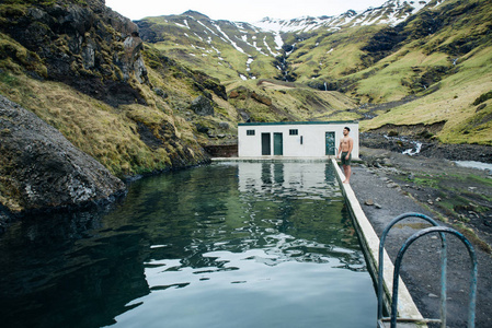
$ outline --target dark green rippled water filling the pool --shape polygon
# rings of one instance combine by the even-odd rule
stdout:
[[[0,237],[2,327],[375,327],[328,163],[216,163]]]

